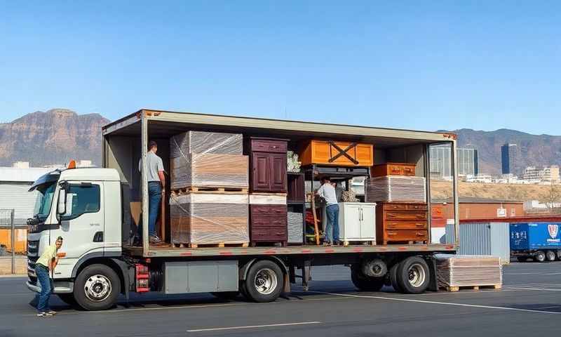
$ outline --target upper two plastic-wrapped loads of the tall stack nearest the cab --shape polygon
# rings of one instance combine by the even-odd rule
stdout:
[[[188,131],[170,138],[171,189],[249,187],[248,156],[238,133]]]

